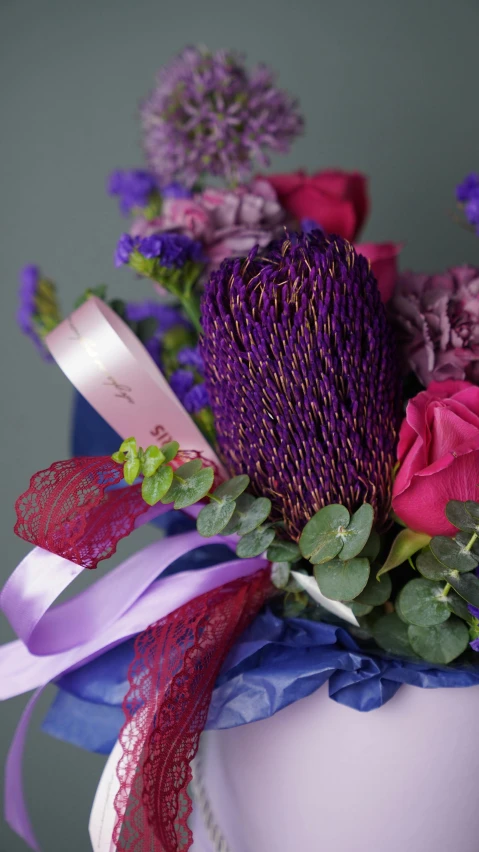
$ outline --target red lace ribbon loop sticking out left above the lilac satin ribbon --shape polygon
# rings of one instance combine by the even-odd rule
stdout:
[[[191,458],[201,454],[178,453],[173,466]],[[216,487],[221,482],[218,471],[212,462],[203,461],[215,468]],[[112,488],[122,479],[122,466],[110,456],[55,462],[32,476],[30,487],[15,503],[16,534],[84,568],[96,568],[148,510],[140,483]]]

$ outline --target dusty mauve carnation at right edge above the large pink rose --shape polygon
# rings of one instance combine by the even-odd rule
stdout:
[[[389,310],[401,361],[425,387],[445,379],[479,383],[479,269],[403,273]]]

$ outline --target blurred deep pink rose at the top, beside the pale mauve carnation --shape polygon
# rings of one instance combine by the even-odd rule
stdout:
[[[329,234],[353,240],[369,212],[367,178],[359,172],[328,169],[308,175],[268,175],[280,204],[295,219],[312,219]]]

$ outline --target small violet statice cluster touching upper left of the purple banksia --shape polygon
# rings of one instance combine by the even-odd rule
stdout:
[[[186,234],[163,232],[143,239],[122,234],[115,250],[115,266],[128,264],[135,250],[148,260],[158,260],[168,269],[181,269],[189,261],[203,262],[203,248],[198,240]]]

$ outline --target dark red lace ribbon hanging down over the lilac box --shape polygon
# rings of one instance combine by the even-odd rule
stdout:
[[[265,569],[214,589],[141,633],[129,671],[120,734],[116,848],[186,852],[190,763],[228,651],[269,591]]]

